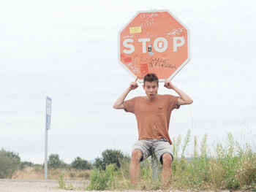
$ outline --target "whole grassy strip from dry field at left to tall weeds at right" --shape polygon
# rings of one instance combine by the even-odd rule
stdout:
[[[193,145],[193,146],[191,146]],[[188,147],[189,146],[189,147]],[[191,139],[188,131],[184,139],[179,135],[173,139],[173,177],[171,184],[162,186],[160,181],[162,165],[159,164],[158,180],[153,180],[151,159],[140,163],[140,182],[131,185],[129,182],[129,159],[124,158],[117,169],[114,164],[105,171],[98,169],[79,171],[75,169],[49,169],[48,179],[58,180],[60,188],[75,189],[67,186],[64,180],[90,180],[85,182],[83,190],[251,190],[256,191],[256,153],[249,144],[233,139],[227,134],[226,143],[215,143],[214,150],[209,150],[207,134],[200,141]],[[188,148],[192,149],[187,155]],[[42,166],[20,169],[12,178],[43,179]],[[60,177],[61,175],[61,177]]]

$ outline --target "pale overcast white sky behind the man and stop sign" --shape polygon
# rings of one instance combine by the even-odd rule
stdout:
[[[45,161],[45,99],[52,99],[48,155],[66,163],[132,152],[135,115],[113,110],[134,78],[118,64],[118,31],[138,12],[168,9],[190,30],[191,61],[173,78],[193,104],[172,113],[170,138],[191,130],[209,150],[228,133],[256,151],[255,1],[0,0],[0,147]],[[173,94],[159,84],[159,94]],[[127,96],[144,96],[142,85]],[[192,154],[192,141],[186,155]]]

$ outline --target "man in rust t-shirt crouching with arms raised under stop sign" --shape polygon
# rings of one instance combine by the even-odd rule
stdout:
[[[162,163],[162,183],[169,183],[171,176],[171,164],[173,155],[168,133],[170,114],[180,105],[192,104],[192,99],[179,90],[170,81],[165,80],[165,88],[173,89],[179,96],[157,94],[159,85],[156,74],[146,74],[143,80],[143,89],[146,96],[138,96],[124,101],[128,93],[138,88],[137,79],[129,85],[124,93],[116,100],[113,108],[124,109],[135,114],[138,121],[139,140],[135,142],[132,150],[132,159],[129,167],[131,183],[135,185],[140,178],[140,161],[154,153]]]

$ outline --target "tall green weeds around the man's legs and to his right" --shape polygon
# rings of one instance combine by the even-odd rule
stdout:
[[[181,142],[181,136],[173,139],[173,177],[169,186],[162,186],[160,174],[162,165],[159,164],[159,180],[152,180],[150,159],[140,164],[140,183],[132,186],[129,183],[129,162],[121,162],[121,169],[108,169],[108,173],[94,170],[90,180],[97,180],[95,177],[105,177],[105,187],[102,190],[159,190],[159,189],[182,189],[182,190],[236,190],[251,189],[256,191],[256,153],[248,144],[241,145],[235,142],[232,134],[227,135],[226,145],[217,143],[211,154],[207,146],[207,134],[204,135],[198,146],[197,137],[194,137],[191,155],[185,157],[187,146],[191,140],[190,131]],[[178,155],[178,152],[181,155]],[[111,171],[112,170],[112,171]],[[101,175],[101,176],[100,176]],[[110,182],[111,178],[111,182]],[[101,178],[104,180],[104,178]],[[96,186],[96,185],[95,185]],[[89,190],[99,188],[90,185]]]

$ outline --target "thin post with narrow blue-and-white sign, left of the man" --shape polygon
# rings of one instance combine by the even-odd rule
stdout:
[[[46,120],[45,120],[45,180],[47,180],[48,159],[48,129],[50,129],[51,99],[46,96]]]

